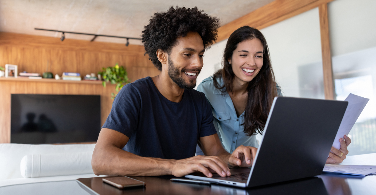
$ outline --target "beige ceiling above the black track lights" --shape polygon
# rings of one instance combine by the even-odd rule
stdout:
[[[0,31],[61,37],[61,33],[34,30],[46,28],[81,33],[139,38],[155,12],[171,5],[194,7],[218,16],[221,24],[246,15],[273,0],[0,0]],[[66,34],[66,39],[91,40],[92,36]],[[126,43],[119,38],[96,41]],[[138,40],[130,44],[140,45]]]

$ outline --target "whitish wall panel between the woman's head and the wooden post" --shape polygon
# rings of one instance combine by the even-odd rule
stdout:
[[[291,97],[324,98],[318,8],[261,29],[276,82]]]

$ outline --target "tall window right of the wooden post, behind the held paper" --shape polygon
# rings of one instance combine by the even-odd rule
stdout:
[[[328,3],[337,100],[350,93],[370,98],[349,133],[349,155],[376,152],[376,1]]]

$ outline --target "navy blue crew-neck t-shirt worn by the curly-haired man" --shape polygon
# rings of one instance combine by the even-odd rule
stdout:
[[[164,159],[192,157],[199,137],[217,133],[205,94],[185,89],[182,101],[172,102],[158,91],[151,77],[120,90],[102,128],[129,137],[123,150]]]

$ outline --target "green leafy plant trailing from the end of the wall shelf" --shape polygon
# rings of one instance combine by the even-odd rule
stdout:
[[[103,71],[99,72],[100,76],[103,78],[102,85],[106,87],[106,82],[111,82],[115,84],[115,91],[119,91],[124,85],[130,83],[130,80],[127,77],[127,71],[123,66],[119,66],[116,63],[115,67],[103,67]],[[117,94],[111,93],[111,99],[113,100]]]

